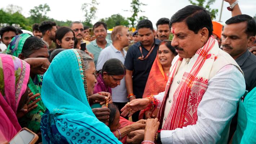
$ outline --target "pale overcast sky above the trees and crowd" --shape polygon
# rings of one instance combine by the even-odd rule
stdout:
[[[123,17],[130,17],[132,13],[125,12],[124,10],[130,9],[131,1],[132,0],[97,0],[97,2],[100,3],[97,6],[97,18],[92,22],[95,23],[101,18],[110,17],[112,14],[118,13]],[[22,14],[28,17],[30,16],[29,10],[34,8],[34,6],[47,3],[51,9],[47,14],[50,18],[60,21],[84,21],[81,5],[90,2],[91,0],[1,0],[0,8],[5,8],[9,4],[18,5],[23,8]],[[141,7],[141,10],[145,12],[139,13],[139,16],[144,15],[148,17],[154,27],[156,27],[155,23],[159,18],[171,18],[179,9],[190,5],[188,0],[141,0],[141,2],[147,5]],[[220,18],[221,3],[222,0],[216,0],[215,3],[211,5],[211,8],[219,9],[216,21],[219,21]],[[231,17],[231,12],[226,9],[227,6],[229,6],[229,4],[224,1],[221,17],[222,22],[225,22]],[[240,0],[239,6],[243,14],[248,14],[252,17],[256,14],[256,0]]]

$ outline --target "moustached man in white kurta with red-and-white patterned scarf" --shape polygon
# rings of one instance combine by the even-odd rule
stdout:
[[[231,118],[245,92],[243,72],[212,38],[211,17],[204,8],[186,6],[170,25],[178,56],[165,91],[154,95],[160,108],[158,142],[227,143]],[[122,115],[151,107],[150,102],[133,100]]]

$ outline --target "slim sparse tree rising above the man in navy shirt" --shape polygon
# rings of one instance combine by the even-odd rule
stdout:
[[[131,2],[131,10],[125,10],[128,12],[132,12],[132,16],[128,18],[128,20],[130,21],[132,27],[135,26],[135,24],[141,19],[147,18],[145,16],[142,16],[140,18],[138,18],[138,13],[139,12],[144,12],[141,10],[141,6],[146,5],[144,3],[141,3],[140,0],[132,0]]]

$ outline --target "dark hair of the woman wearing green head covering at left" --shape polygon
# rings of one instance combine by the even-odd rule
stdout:
[[[45,46],[49,49],[49,45],[47,44],[47,42],[39,39],[38,37],[31,36],[28,37],[27,40],[24,42],[21,53],[24,55],[24,57],[28,57],[29,55],[34,53],[35,50],[39,50],[41,48],[44,48]]]

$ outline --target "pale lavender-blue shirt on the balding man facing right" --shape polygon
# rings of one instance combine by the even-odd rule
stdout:
[[[122,51],[124,55],[121,53],[121,51],[117,50],[112,44],[103,49],[98,57],[96,70],[101,70],[104,63],[111,58],[119,59],[124,64],[126,51],[124,49],[122,49]],[[124,78],[121,80],[120,85],[118,85],[115,88],[112,88],[112,100],[116,103],[125,103],[129,101],[127,98],[127,90]]]

